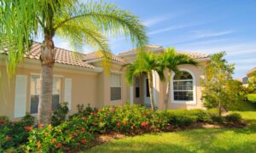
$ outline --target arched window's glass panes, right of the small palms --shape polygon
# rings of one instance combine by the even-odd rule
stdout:
[[[173,98],[175,101],[193,101],[193,77],[187,71],[180,71],[173,78]]]

